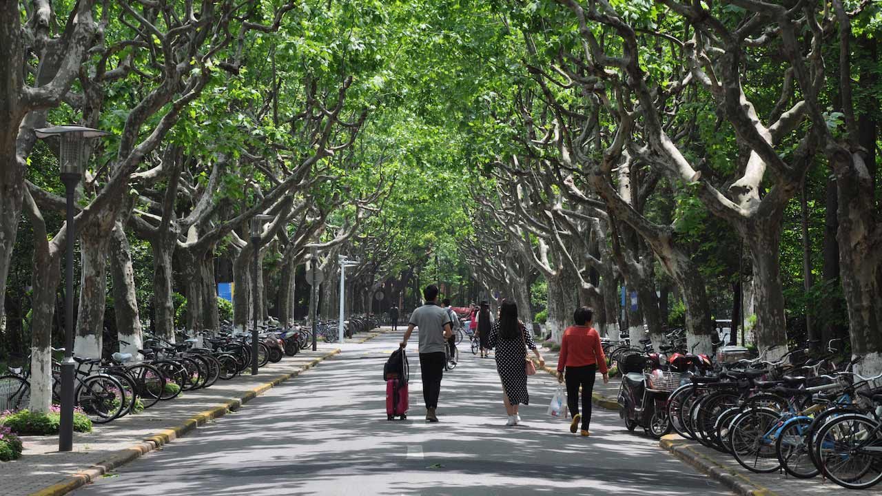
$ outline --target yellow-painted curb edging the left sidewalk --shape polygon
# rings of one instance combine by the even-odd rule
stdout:
[[[300,372],[308,371],[319,363],[325,361],[330,357],[333,357],[338,353],[340,353],[340,349],[334,349],[332,352],[325,354],[325,356],[318,357],[312,360],[310,363],[302,365],[300,369],[294,372],[283,373],[275,377],[273,380],[266,382],[265,384],[261,384],[258,387],[251,388],[249,391],[245,392],[241,398],[235,398],[233,400],[229,400],[228,402],[224,402],[221,405],[218,405],[209,410],[205,410],[188,418],[181,425],[176,425],[169,429],[156,432],[153,435],[146,437],[141,442],[133,444],[130,447],[125,447],[123,449],[117,450],[116,453],[110,455],[107,460],[95,463],[88,469],[82,470],[70,477],[66,477],[59,483],[50,485],[49,487],[45,487],[40,491],[32,492],[30,496],[60,496],[61,494],[66,494],[75,489],[78,489],[79,487],[87,485],[94,480],[101,478],[101,476],[103,476],[110,470],[114,470],[117,467],[120,467],[128,462],[137,459],[141,455],[150,453],[151,451],[162,447],[163,445],[166,445],[173,440],[176,440],[177,438],[185,436],[188,432],[196,429],[199,425],[205,425],[210,420],[218,417],[223,417],[230,411],[239,410],[239,408],[241,408],[244,403],[247,403],[251,399],[256,398],[258,395],[265,393],[265,391],[267,391],[268,389],[274,386],[278,386],[282,382],[293,377],[297,377],[298,375],[300,375]]]

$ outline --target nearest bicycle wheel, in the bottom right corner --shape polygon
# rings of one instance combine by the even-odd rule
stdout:
[[[879,425],[871,417],[848,413],[821,427],[816,458],[825,477],[847,489],[866,489],[882,479]]]

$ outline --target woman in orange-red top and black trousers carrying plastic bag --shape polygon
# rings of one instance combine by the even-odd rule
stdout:
[[[590,436],[591,393],[594,390],[594,374],[600,369],[603,384],[609,382],[606,357],[603,356],[601,336],[597,334],[592,319],[594,312],[587,306],[572,315],[575,326],[567,327],[560,342],[560,359],[557,361],[557,380],[564,382],[566,369],[566,403],[572,415],[570,432],[575,433],[582,421],[581,434]],[[579,387],[582,388],[582,414],[579,415]]]

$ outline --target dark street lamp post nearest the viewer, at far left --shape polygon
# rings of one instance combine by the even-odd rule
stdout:
[[[67,253],[64,260],[64,360],[61,363],[61,418],[58,427],[58,451],[73,449],[73,251],[77,235],[73,226],[73,202],[77,184],[91,150],[86,139],[108,136],[109,132],[78,125],[62,125],[35,129],[37,138],[58,137],[58,162],[67,197]]]

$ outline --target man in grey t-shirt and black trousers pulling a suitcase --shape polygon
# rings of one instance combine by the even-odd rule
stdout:
[[[407,347],[407,340],[420,329],[420,374],[422,375],[422,400],[426,403],[426,422],[437,422],[435,410],[438,406],[438,395],[441,393],[441,378],[444,375],[445,340],[452,335],[450,315],[437,305],[438,289],[430,284],[422,290],[425,304],[410,314],[410,322],[401,348]]]

